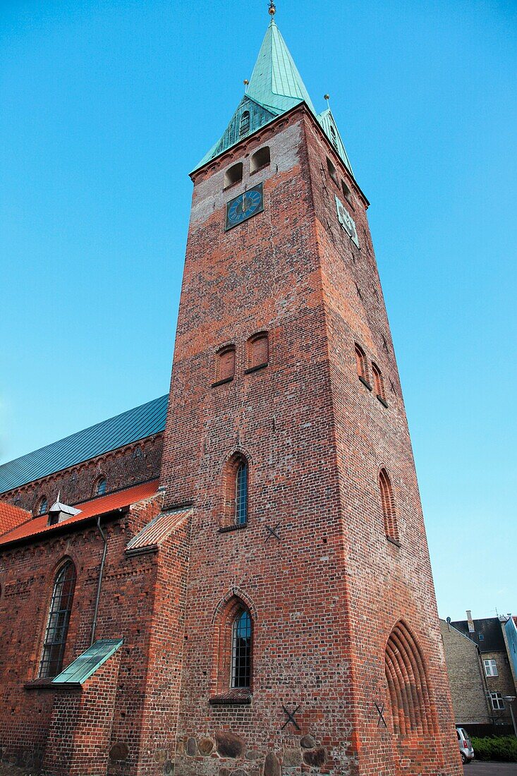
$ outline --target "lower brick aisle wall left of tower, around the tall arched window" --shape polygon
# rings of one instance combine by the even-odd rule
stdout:
[[[149,654],[156,639],[155,589],[159,577],[162,596],[166,572],[158,573],[159,554],[128,557],[125,547],[158,514],[160,505],[161,497],[148,499],[104,528],[108,551],[95,636],[124,639],[111,736],[112,743],[122,741],[129,748],[123,771],[128,776],[136,774],[142,753],[141,728],[148,715],[144,694],[151,684]],[[70,557],[77,570],[66,666],[89,645],[101,556],[102,539],[95,526],[0,553],[0,752],[4,760],[38,764],[45,750],[57,691],[24,685],[38,674],[55,570],[64,557]],[[168,636],[177,641],[175,631]],[[177,682],[177,671],[173,674]],[[104,703],[101,690],[100,705]],[[102,757],[107,759],[106,747]],[[116,773],[114,763],[113,768]]]

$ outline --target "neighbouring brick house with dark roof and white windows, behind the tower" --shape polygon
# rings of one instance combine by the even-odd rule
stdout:
[[[517,631],[511,617],[440,621],[456,725],[471,733],[512,726]],[[515,709],[515,707],[514,707]]]

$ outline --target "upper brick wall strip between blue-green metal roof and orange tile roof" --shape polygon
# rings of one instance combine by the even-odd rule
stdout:
[[[162,438],[163,435],[156,434],[141,439],[140,442],[111,450],[78,466],[7,490],[2,494],[2,501],[9,501],[36,514],[43,496],[47,497],[50,507],[60,491],[64,504],[79,504],[92,498],[95,495],[95,483],[100,476],[106,477],[106,493],[154,480],[160,473]]]

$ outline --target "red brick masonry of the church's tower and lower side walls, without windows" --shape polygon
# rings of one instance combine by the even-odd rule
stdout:
[[[249,156],[264,145],[270,164],[250,173]],[[327,158],[352,204],[328,175]],[[236,161],[243,161],[243,181],[224,191],[224,171]],[[264,211],[224,231],[227,201],[259,182]],[[359,249],[338,223],[336,195],[352,208]],[[33,508],[42,493],[50,500],[61,487],[63,500],[77,503],[91,495],[99,474],[116,490],[151,479],[161,457],[160,493],[112,515],[105,527],[97,637],[123,637],[120,662],[108,661],[99,681],[68,698],[34,682],[64,557],[77,570],[64,664],[88,646],[102,555],[93,523],[5,548],[4,759],[32,758],[47,776],[77,774],[86,762],[91,776],[460,774],[366,206],[304,106],[194,175],[162,456],[157,437],[144,443],[147,458],[131,448],[113,451],[7,494]],[[249,371],[248,342],[259,331],[269,336],[269,362]],[[372,362],[380,368],[387,407],[359,381],[355,343],[368,369]],[[230,345],[233,379],[214,385],[217,354]],[[228,471],[243,458],[248,521],[221,532],[231,527]],[[400,542],[384,531],[382,468]],[[155,552],[126,553],[129,539],[161,509],[186,504],[192,517]],[[269,533],[273,526],[278,538]],[[223,705],[217,699],[229,690],[229,632],[239,602],[252,617],[252,687]],[[84,736],[85,709],[95,697],[99,724]],[[60,746],[70,752],[64,764]]]

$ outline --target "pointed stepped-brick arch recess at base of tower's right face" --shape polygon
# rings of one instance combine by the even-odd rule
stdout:
[[[433,733],[435,725],[422,654],[404,622],[395,625],[387,640],[385,667],[394,733]]]

